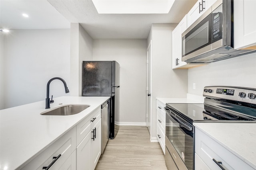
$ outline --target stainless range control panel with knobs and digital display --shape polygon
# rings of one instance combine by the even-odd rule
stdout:
[[[256,89],[228,86],[206,86],[203,96],[256,104]]]

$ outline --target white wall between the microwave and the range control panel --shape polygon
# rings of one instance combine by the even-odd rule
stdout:
[[[188,93],[202,96],[204,86],[213,85],[256,88],[256,53],[188,70]]]

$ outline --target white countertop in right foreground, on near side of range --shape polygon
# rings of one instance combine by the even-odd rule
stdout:
[[[256,123],[193,123],[193,125],[256,169]]]

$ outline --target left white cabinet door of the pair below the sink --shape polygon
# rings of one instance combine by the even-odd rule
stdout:
[[[90,167],[90,149],[92,141],[92,132],[89,132],[82,142],[76,148],[76,169],[88,170]]]

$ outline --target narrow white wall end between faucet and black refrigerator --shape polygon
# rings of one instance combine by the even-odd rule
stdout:
[[[82,96],[82,61],[92,60],[92,37],[79,23],[71,23],[70,30],[70,95]]]

